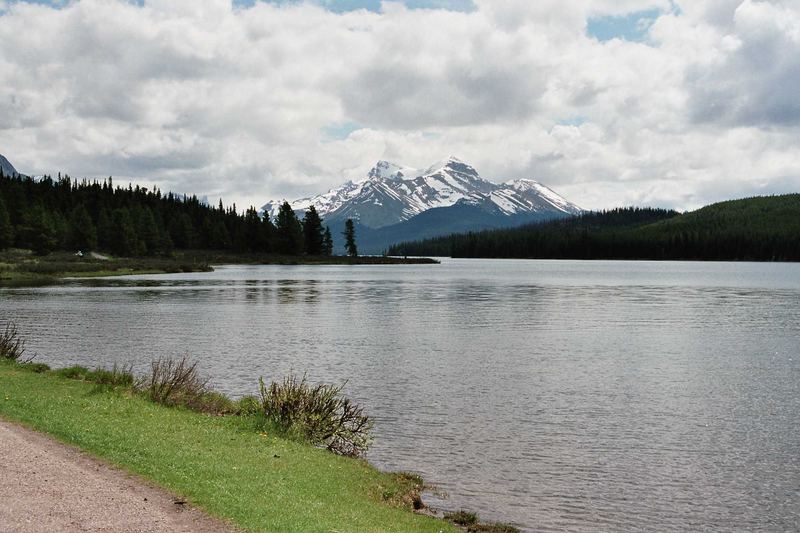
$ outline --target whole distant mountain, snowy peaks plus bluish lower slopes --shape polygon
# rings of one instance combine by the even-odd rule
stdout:
[[[283,202],[270,201],[261,209],[274,219]],[[353,219],[362,253],[381,253],[400,241],[582,213],[541,183],[493,183],[455,157],[423,170],[379,161],[360,181],[289,204],[300,216],[313,205],[334,232]]]

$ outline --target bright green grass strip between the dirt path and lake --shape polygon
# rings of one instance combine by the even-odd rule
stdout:
[[[252,531],[457,531],[412,513],[413,476],[259,432],[251,417],[163,407],[0,361],[0,416],[84,449]],[[387,502],[386,500],[389,500]]]

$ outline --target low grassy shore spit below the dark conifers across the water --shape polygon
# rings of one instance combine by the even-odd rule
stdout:
[[[0,252],[0,287],[35,286],[58,283],[67,277],[124,276],[131,274],[166,274],[208,272],[211,265],[396,265],[434,264],[427,258],[282,256],[273,254],[232,254],[206,250],[185,250],[170,257],[83,257],[70,252],[44,256],[29,250]]]

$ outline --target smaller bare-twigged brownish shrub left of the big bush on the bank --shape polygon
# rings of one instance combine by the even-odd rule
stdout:
[[[204,397],[211,392],[208,379],[197,372],[197,363],[186,356],[153,361],[150,373],[139,378],[136,388],[156,403],[190,409],[201,407]]]

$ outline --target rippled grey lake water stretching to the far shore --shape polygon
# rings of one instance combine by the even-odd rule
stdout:
[[[525,530],[800,529],[800,264],[229,266],[0,290],[54,366],[348,380],[369,458]]]

